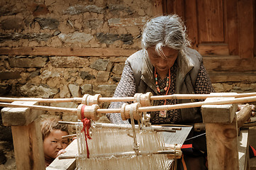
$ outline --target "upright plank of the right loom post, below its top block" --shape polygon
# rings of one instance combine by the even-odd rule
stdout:
[[[231,124],[206,123],[209,170],[238,170],[236,121]]]

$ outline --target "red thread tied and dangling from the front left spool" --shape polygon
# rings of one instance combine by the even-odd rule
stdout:
[[[83,129],[82,132],[84,131],[84,136],[85,136],[85,142],[87,143],[87,138],[91,140],[90,134],[89,134],[89,129],[91,128],[91,121],[87,118],[84,118],[84,108],[86,105],[83,105],[81,108],[81,117],[82,117],[82,123],[83,123]],[[87,158],[89,157],[89,147],[87,143]]]

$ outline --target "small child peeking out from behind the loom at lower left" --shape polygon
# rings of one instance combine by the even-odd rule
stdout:
[[[69,135],[67,125],[58,123],[54,118],[41,121],[41,132],[43,135],[43,151],[45,153],[45,167],[49,166],[53,160],[62,153],[68,145],[68,140],[62,136]]]

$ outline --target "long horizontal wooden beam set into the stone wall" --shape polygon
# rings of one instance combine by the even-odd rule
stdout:
[[[123,48],[1,47],[0,55],[128,57],[136,51],[137,50]]]

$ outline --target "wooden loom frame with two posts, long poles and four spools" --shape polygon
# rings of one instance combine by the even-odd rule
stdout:
[[[251,97],[246,97],[246,96],[251,96]],[[235,97],[238,97],[238,98],[235,98]],[[169,106],[150,106],[152,100],[160,100],[160,99],[166,99],[166,98],[177,98],[177,99],[207,98],[207,99],[204,102],[185,103],[185,104],[178,104],[173,106],[170,106],[170,105]],[[225,98],[225,100],[223,98]],[[0,98],[0,99],[1,101],[11,100],[11,98]],[[14,143],[14,148],[16,149],[15,152],[16,152],[17,168],[27,169],[26,167],[28,167],[28,169],[44,169],[42,168],[44,167],[42,166],[44,165],[44,159],[43,159],[44,157],[43,157],[43,150],[42,150],[43,148],[37,147],[42,145],[42,139],[40,139],[40,123],[38,120],[38,117],[39,117],[38,115],[40,115],[40,113],[38,113],[38,110],[80,113],[82,106],[79,106],[77,109],[55,108],[55,107],[48,107],[48,106],[35,106],[35,104],[38,104],[38,101],[40,100],[48,100],[48,102],[52,102],[50,101],[51,99],[38,100],[38,98],[15,98],[13,100],[15,100],[13,103],[0,103],[0,106],[13,107],[13,108],[4,108],[2,110],[2,118],[3,118],[3,124],[11,125],[11,128],[12,128],[13,143]],[[57,99],[53,99],[53,100],[57,100]],[[74,100],[74,98],[72,100]],[[226,162],[223,163],[223,161],[221,160],[224,160],[223,157],[225,157],[226,155],[222,155],[220,159],[217,159],[216,161],[214,161],[214,159],[216,159],[216,156],[214,154],[211,155],[212,153],[215,153],[214,149],[212,148],[220,147],[221,149],[223,148],[226,149],[226,146],[231,146],[231,148],[234,147],[233,152],[238,153],[237,149],[235,149],[238,146],[238,143],[237,142],[235,143],[235,140],[237,139],[237,133],[238,133],[238,128],[237,128],[238,121],[237,121],[237,118],[235,118],[236,106],[233,103],[253,102],[253,101],[256,101],[256,97],[255,97],[255,94],[211,94],[210,96],[209,95],[152,96],[152,94],[136,94],[134,98],[112,98],[110,99],[110,101],[135,101],[135,102],[140,101],[140,103],[144,105],[143,107],[141,107],[140,104],[138,103],[133,103],[131,105],[124,104],[122,108],[116,108],[116,109],[99,108],[99,103],[106,100],[106,98],[101,98],[100,95],[96,95],[96,96],[85,95],[84,98],[75,98],[75,100],[76,101],[81,100],[81,103],[92,105],[92,106],[84,107],[84,113],[85,113],[85,117],[91,118],[94,120],[99,119],[99,115],[101,113],[104,114],[104,113],[119,112],[121,113],[123,119],[127,119],[127,118],[130,118],[129,117],[130,110],[133,110],[134,118],[140,119],[142,115],[141,113],[147,112],[147,111],[167,111],[170,109],[191,108],[191,107],[202,106],[203,119],[204,119],[204,123],[206,123],[207,147],[208,147],[208,151],[213,150],[213,152],[208,152],[209,169],[216,169],[216,167],[218,168],[222,167],[223,169],[223,167],[226,167],[226,166],[223,166],[226,164]],[[62,100],[61,102],[65,102],[65,101],[67,100],[65,99],[65,100]],[[25,102],[26,102],[26,105],[25,105]],[[30,110],[30,108],[32,110]],[[247,111],[247,113],[249,112]],[[216,118],[218,118],[219,116],[213,116],[213,114],[214,115],[219,114],[219,116],[221,116],[221,120],[218,120],[218,119],[216,120]],[[17,121],[14,120],[13,116],[14,118],[18,118],[19,116],[18,120]],[[246,117],[247,116],[243,118],[243,121],[246,120]],[[232,129],[228,133],[229,136],[226,136],[225,134],[227,129],[228,130]],[[218,133],[213,133],[212,130],[216,130],[218,131]],[[222,132],[219,130],[222,130],[224,132],[223,133],[224,137],[219,137],[218,134]],[[21,135],[21,134],[25,134],[25,135]],[[207,134],[211,134],[211,135],[207,135]],[[211,141],[219,138],[222,141],[209,143],[208,139],[211,137],[213,138],[211,139]],[[230,138],[232,138],[233,140],[231,141]],[[21,140],[29,141],[28,146],[26,146],[26,144],[21,143],[20,142]],[[228,142],[232,142],[233,145],[227,145],[226,140]],[[26,150],[26,149],[24,150],[24,148],[30,148],[30,150]],[[33,152],[31,152],[31,149]],[[219,153],[215,153],[215,154],[219,155]],[[24,155],[28,155],[28,157],[24,157]],[[232,154],[232,155],[236,155],[236,154]],[[237,169],[238,157],[234,157],[234,156],[230,157],[230,160],[232,160],[232,162],[231,164],[228,164],[228,168],[230,167],[230,169],[234,169],[233,167],[235,167],[235,169]],[[24,164],[24,162],[27,162],[28,164]],[[216,162],[220,162],[220,164],[216,164]],[[234,164],[234,162],[236,162],[236,164]]]

